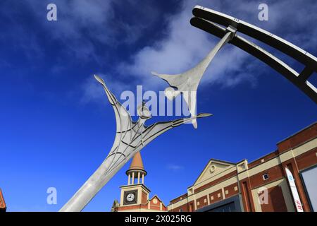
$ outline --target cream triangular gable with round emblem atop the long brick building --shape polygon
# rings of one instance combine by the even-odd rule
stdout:
[[[206,167],[203,169],[199,177],[197,178],[196,182],[194,182],[193,186],[195,184],[199,184],[201,182],[204,182],[206,179],[209,179],[211,177],[215,177],[216,175],[220,174],[221,172],[224,172],[225,170],[229,169],[230,167],[234,166],[235,164],[230,162],[223,162],[219,160],[210,160]]]

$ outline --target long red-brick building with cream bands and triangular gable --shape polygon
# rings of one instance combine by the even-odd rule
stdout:
[[[252,162],[209,160],[168,211],[317,211],[316,134],[314,123]]]

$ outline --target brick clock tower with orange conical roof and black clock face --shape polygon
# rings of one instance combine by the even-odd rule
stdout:
[[[139,152],[132,159],[130,168],[125,172],[128,176],[127,185],[120,186],[120,202],[114,201],[111,211],[167,211],[158,196],[149,199],[150,190],[144,184],[144,177],[147,176],[142,157]]]

